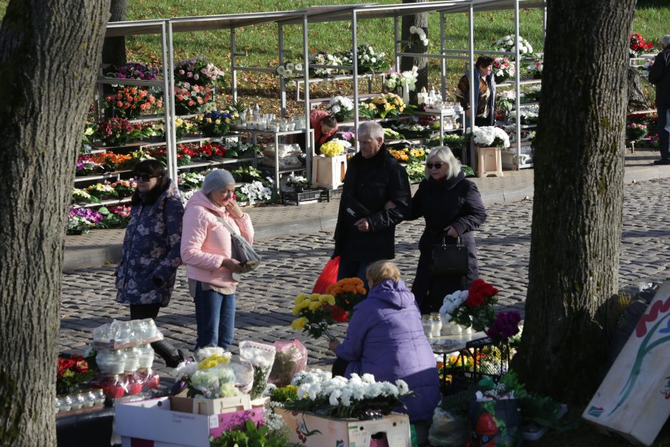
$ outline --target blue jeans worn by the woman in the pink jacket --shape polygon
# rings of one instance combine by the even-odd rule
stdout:
[[[193,301],[197,323],[195,349],[205,346],[228,349],[235,332],[235,294],[202,290],[202,283],[198,282]]]

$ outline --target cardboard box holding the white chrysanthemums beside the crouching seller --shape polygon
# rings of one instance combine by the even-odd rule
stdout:
[[[336,419],[276,409],[291,432],[291,443],[308,447],[369,447],[374,433],[386,433],[388,447],[411,447],[410,423],[406,414],[391,413],[376,421]]]

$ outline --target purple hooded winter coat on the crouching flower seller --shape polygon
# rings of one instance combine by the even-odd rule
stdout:
[[[367,373],[377,381],[406,381],[415,393],[404,400],[410,421],[433,417],[440,401],[438,369],[414,295],[403,280],[386,279],[370,290],[354,307],[346,338],[335,352],[349,361],[346,377]]]

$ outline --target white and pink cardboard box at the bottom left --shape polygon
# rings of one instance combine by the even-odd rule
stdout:
[[[115,406],[116,431],[123,446],[209,447],[210,436],[217,438],[247,419],[264,422],[263,409],[213,415],[182,413],[172,411],[168,397]]]

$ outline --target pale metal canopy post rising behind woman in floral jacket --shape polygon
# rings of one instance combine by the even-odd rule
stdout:
[[[177,183],[177,132],[175,129],[175,53],[172,42],[172,22],[168,23],[168,53],[165,51],[165,24],[161,26],[163,36],[163,80],[165,83],[165,153],[168,154],[168,175]],[[167,60],[167,62],[166,62]],[[169,69],[168,69],[169,67]]]

